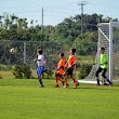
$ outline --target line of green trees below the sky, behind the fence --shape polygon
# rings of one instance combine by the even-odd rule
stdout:
[[[41,26],[38,21],[21,18],[15,14],[0,15],[0,40],[21,41],[71,41],[78,42],[80,53],[91,53],[96,49],[97,24],[118,21],[103,15],[83,14],[83,39],[81,36],[81,15],[70,16],[55,26]],[[34,25],[36,23],[37,25]],[[90,44],[90,45],[89,45]],[[88,47],[89,45],[89,47]]]

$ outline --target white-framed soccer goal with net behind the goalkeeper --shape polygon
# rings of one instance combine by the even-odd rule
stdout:
[[[101,47],[106,49],[106,54],[108,56],[109,68],[106,75],[109,77],[111,82],[119,81],[119,22],[100,23],[97,28],[98,42],[95,65],[93,65],[88,77],[79,82],[96,83],[95,71],[100,66]],[[100,76],[100,79],[101,82],[104,80],[102,76]]]

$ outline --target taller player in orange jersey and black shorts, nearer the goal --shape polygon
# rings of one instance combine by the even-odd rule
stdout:
[[[77,88],[79,85],[79,82],[76,80],[76,78],[72,75],[72,71],[76,68],[76,55],[75,55],[75,53],[76,53],[76,49],[71,49],[69,52],[69,58],[68,58],[68,62],[66,63],[66,66],[65,66],[65,67],[67,67],[67,70],[64,74],[64,76],[65,76],[65,87],[64,88],[67,88],[69,85],[67,82],[68,76],[70,76],[71,80],[76,84],[75,88]]]

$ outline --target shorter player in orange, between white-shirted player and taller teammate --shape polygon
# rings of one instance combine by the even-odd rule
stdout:
[[[62,82],[62,84],[64,85],[64,80],[62,80],[62,76],[64,74],[64,68],[65,68],[65,58],[64,58],[64,53],[61,53],[60,54],[60,63],[56,66],[56,72],[55,72],[55,81],[56,81],[56,84],[55,87],[60,87],[58,85],[58,80]]]

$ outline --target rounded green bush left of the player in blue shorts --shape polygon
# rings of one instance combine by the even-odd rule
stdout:
[[[13,75],[16,79],[30,79],[31,78],[31,70],[28,65],[22,64],[16,65],[14,69],[12,70]]]

